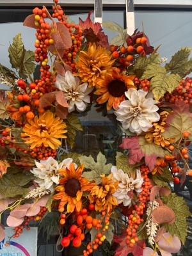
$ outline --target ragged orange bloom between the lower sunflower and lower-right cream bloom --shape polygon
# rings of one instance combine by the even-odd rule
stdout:
[[[116,198],[113,196],[117,187],[118,181],[111,179],[112,173],[105,177],[102,175],[102,182],[95,185],[88,196],[91,203],[95,202],[96,211],[110,211],[111,207],[118,205]]]

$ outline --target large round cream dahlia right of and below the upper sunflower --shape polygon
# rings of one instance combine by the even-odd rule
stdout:
[[[152,127],[152,122],[157,122],[160,119],[155,104],[152,92],[144,92],[129,88],[125,92],[128,100],[124,100],[115,111],[116,120],[122,123],[122,127],[131,132],[140,134],[142,131],[147,132]]]

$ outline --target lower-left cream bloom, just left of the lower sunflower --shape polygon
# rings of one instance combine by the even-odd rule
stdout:
[[[49,157],[47,160],[41,160],[40,163],[35,161],[36,167],[31,170],[31,173],[38,177],[35,180],[40,187],[53,190],[53,184],[59,184],[60,169],[69,168],[72,163],[72,158],[64,159],[60,164],[53,157]]]

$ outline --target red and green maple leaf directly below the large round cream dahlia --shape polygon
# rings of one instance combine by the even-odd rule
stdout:
[[[145,157],[145,164],[148,166],[150,171],[154,169],[157,157],[164,157],[163,148],[154,143],[148,143],[145,140],[145,136],[124,138],[120,147],[130,149],[128,157],[129,164],[140,163],[141,159]]]

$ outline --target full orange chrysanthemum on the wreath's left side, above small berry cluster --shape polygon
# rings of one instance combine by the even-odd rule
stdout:
[[[30,148],[44,145],[55,149],[61,145],[61,141],[58,138],[67,138],[67,136],[63,135],[63,133],[67,132],[65,130],[66,124],[60,117],[55,117],[55,115],[55,113],[48,110],[40,114],[40,116],[29,119],[28,124],[24,125],[22,129],[24,133],[21,136],[26,143],[31,144]]]

